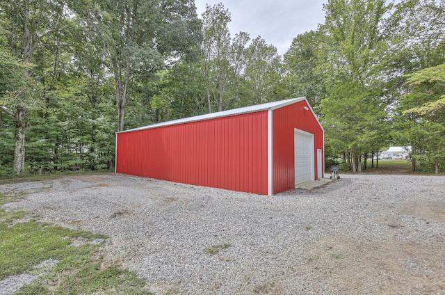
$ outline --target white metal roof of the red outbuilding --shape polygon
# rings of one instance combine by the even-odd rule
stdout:
[[[120,131],[117,133],[138,131],[138,130],[144,130],[144,129],[152,129],[152,128],[170,126],[170,125],[178,125],[178,124],[184,124],[184,123],[188,123],[188,122],[196,122],[196,121],[209,120],[209,119],[214,119],[214,118],[222,118],[222,117],[228,117],[230,115],[239,115],[242,113],[254,113],[257,111],[275,110],[275,109],[280,109],[284,106],[289,106],[289,104],[295,104],[296,102],[301,102],[302,100],[307,101],[306,97],[298,97],[298,98],[293,98],[293,99],[280,100],[278,102],[268,102],[266,104],[257,104],[254,106],[246,106],[244,108],[232,109],[232,110],[228,110],[228,111],[220,111],[217,113],[207,113],[205,115],[195,115],[194,117],[172,120],[172,121],[167,121],[167,122],[161,122],[161,123],[157,123],[157,124],[147,125],[144,127],[138,127],[138,128],[134,128],[134,129],[124,130],[124,131]],[[309,105],[309,102],[307,104]],[[312,111],[312,108],[311,108],[311,111]],[[314,111],[312,111],[312,113],[314,113]]]

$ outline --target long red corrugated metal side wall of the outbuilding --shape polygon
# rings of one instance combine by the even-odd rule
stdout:
[[[267,195],[267,111],[118,134],[116,172]]]

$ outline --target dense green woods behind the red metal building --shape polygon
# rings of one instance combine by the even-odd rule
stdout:
[[[325,156],[360,171],[389,145],[445,171],[445,3],[330,0],[280,56],[231,35],[222,3],[0,2],[0,177],[113,168],[115,132],[305,96]]]

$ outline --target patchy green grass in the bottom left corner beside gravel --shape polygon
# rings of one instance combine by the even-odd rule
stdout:
[[[0,193],[0,205],[21,197]],[[17,222],[26,215],[0,209],[0,280],[22,273],[38,274],[34,266],[45,260],[58,260],[58,264],[15,294],[151,294],[136,273],[104,266],[102,244],[91,243],[97,239],[105,241],[103,234],[35,220]],[[70,246],[74,239],[85,243]]]

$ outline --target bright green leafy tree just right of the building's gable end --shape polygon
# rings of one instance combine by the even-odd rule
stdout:
[[[327,154],[352,160],[348,168],[354,171],[363,154],[391,139],[385,57],[396,29],[389,21],[393,7],[383,0],[329,1],[323,6],[325,23],[296,38],[285,56],[291,69],[298,69],[293,79],[300,81],[300,91],[318,96]]]

